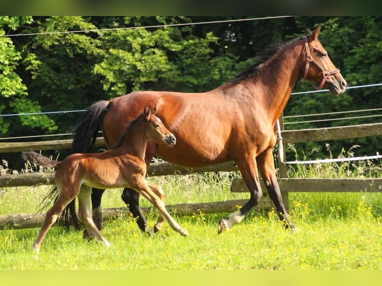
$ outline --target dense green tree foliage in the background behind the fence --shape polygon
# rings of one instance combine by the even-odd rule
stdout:
[[[83,110],[97,100],[136,90],[210,90],[231,79],[269,45],[304,35],[320,23],[320,40],[349,86],[381,81],[380,16],[225,21],[242,18],[249,17],[0,16],[0,113]],[[208,21],[223,22],[193,24]],[[72,32],[78,30],[83,32]],[[312,89],[299,81],[294,91]],[[338,98],[329,93],[296,95],[285,114],[378,108],[380,94],[376,87],[348,90]],[[78,117],[79,113],[0,117],[0,134],[5,138],[70,133]],[[368,122],[359,119],[352,124]],[[293,128],[329,125],[344,122]],[[340,153],[342,147],[354,144],[362,145],[365,154],[374,154],[381,139],[338,141],[331,146]],[[319,156],[325,156],[324,146],[308,143],[297,149],[307,154],[316,148]],[[10,160],[12,155],[2,156]]]

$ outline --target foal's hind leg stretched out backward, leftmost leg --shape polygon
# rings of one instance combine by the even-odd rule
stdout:
[[[73,197],[64,196],[59,191],[58,198],[54,202],[53,206],[46,212],[44,222],[36,237],[36,240],[34,241],[32,245],[32,249],[35,250],[37,253],[40,252],[40,246],[49,228],[56,222],[58,216],[74,198],[75,196]]]

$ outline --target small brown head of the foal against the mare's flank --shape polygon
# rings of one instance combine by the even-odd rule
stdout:
[[[150,110],[145,106],[143,110],[143,117],[148,124],[148,137],[157,143],[166,143],[168,146],[173,147],[177,142],[175,136],[163,125],[159,117],[155,116],[157,113],[157,106]]]

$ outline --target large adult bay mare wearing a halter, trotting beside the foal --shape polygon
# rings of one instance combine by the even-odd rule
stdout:
[[[318,40],[321,26],[307,36],[273,48],[253,66],[230,82],[203,93],[141,91],[91,105],[75,131],[73,152],[88,152],[97,132],[103,130],[108,147],[115,145],[129,122],[145,105],[158,106],[158,115],[177,137],[171,150],[148,143],[145,161],[156,154],[164,160],[189,167],[235,161],[249,192],[249,201],[222,219],[218,232],[230,229],[259,202],[262,195],[258,171],[265,182],[280,220],[293,228],[276,180],[272,149],[276,121],[298,79],[304,78],[334,96],[345,91],[346,81]],[[93,218],[102,227],[102,192],[92,193]],[[147,221],[139,193],[124,189],[123,200],[142,231]],[[71,204],[73,205],[73,203]]]

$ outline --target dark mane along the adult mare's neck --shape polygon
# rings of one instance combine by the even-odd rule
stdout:
[[[309,33],[309,32],[308,32]],[[274,46],[271,46],[267,50],[263,51],[259,56],[255,57],[253,59],[253,64],[240,72],[238,75],[236,75],[233,79],[231,79],[228,83],[230,84],[237,84],[243,80],[246,80],[254,75],[256,75],[264,66],[266,66],[267,63],[272,61],[274,58],[277,57],[279,52],[285,48],[287,45],[296,42],[300,40],[301,37],[295,38],[289,42],[283,42],[276,44]]]

